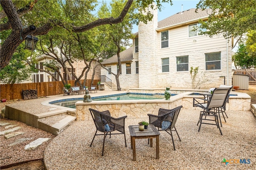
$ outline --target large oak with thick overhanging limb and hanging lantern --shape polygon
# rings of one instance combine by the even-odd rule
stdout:
[[[168,1],[171,2],[171,0],[162,0],[161,2]],[[75,0],[75,2],[79,3],[80,0]],[[94,3],[93,1],[86,2],[88,2],[88,4]],[[124,19],[124,16],[126,16],[133,2],[133,0],[127,0],[122,12],[116,18],[100,18],[90,21],[84,25],[74,25],[75,23],[72,23],[72,21],[62,21],[62,19],[66,16],[60,11],[60,3],[57,0],[34,0],[32,2],[1,0],[1,31],[9,29],[12,31],[1,44],[2,49],[0,53],[0,69],[4,68],[10,62],[16,48],[24,41],[27,35],[46,35],[53,27],[56,26],[64,29],[68,28],[73,32],[78,33],[88,31],[99,25],[120,23]],[[152,2],[156,2],[157,6],[161,8],[160,0],[138,0],[135,2],[139,7],[141,7],[138,9],[137,17],[141,21],[150,20],[150,18],[152,18],[152,14],[148,14],[146,17],[140,14],[140,11],[146,8],[149,4],[152,4]],[[87,6],[84,7],[84,10],[87,10],[88,12],[94,10],[93,6],[89,6],[92,8],[86,7]],[[26,17],[34,19],[27,20]],[[36,26],[36,29],[31,29],[29,27],[33,24]]]

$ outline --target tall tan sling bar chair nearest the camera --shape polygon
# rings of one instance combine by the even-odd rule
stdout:
[[[212,96],[209,100],[204,98],[194,98],[193,99],[193,107],[200,107],[203,111],[200,111],[200,117],[197,125],[200,123],[198,132],[200,131],[202,124],[208,125],[216,125],[220,130],[220,134],[222,135],[222,131],[219,125],[220,118],[220,108],[224,106],[225,100],[228,97],[228,93],[230,92],[230,88],[215,88],[212,92]],[[213,119],[209,119],[208,116],[214,117]],[[209,123],[209,121],[215,121],[214,123]],[[221,119],[220,119],[221,122]]]

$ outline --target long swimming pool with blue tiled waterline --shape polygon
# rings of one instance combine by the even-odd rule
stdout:
[[[171,94],[174,96],[175,94]],[[146,93],[122,93],[122,94],[113,94],[108,96],[97,96],[92,97],[93,101],[106,101],[106,100],[154,100],[164,99],[164,94],[146,94]],[[49,104],[54,104],[57,106],[69,107],[69,108],[76,108],[75,103],[78,101],[83,101],[84,98],[71,98],[71,99],[63,99],[63,100],[56,100],[50,102]]]

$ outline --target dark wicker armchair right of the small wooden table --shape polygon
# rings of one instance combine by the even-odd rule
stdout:
[[[171,135],[174,150],[176,150],[176,149],[175,149],[175,145],[174,145],[172,131],[176,131],[178,138],[181,141],[180,136],[175,127],[175,123],[176,123],[176,120],[178,118],[181,108],[182,108],[182,106],[178,106],[178,107],[176,107],[174,109],[170,109],[170,110],[160,108],[158,110],[158,115],[148,114],[149,124],[153,124],[155,127],[158,127],[158,131],[166,131],[169,135]],[[159,130],[159,128],[161,128],[161,130]],[[169,133],[169,131],[170,131],[170,133]]]

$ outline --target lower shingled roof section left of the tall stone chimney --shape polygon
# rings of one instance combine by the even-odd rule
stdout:
[[[132,61],[133,59],[133,47],[130,47],[124,51],[122,51],[120,53],[120,59],[121,59],[121,63],[127,62],[127,61]],[[102,62],[102,64],[117,64],[117,55],[114,55],[108,59],[106,59],[105,61]]]

